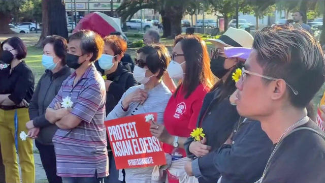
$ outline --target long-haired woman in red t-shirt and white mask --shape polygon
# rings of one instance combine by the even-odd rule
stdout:
[[[214,83],[205,42],[195,35],[177,36],[167,72],[182,83],[167,104],[164,125],[154,123],[150,131],[164,142],[164,151],[172,156],[174,163],[186,157],[184,142],[196,128],[203,99]],[[168,172],[169,182],[178,182],[179,178]]]

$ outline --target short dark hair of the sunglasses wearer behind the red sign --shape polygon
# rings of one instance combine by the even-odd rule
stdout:
[[[160,69],[157,78],[160,79],[163,77],[171,60],[171,56],[166,46],[161,44],[146,45],[138,49],[137,53],[143,53],[147,55],[146,60],[144,61],[146,62],[148,69],[152,73],[156,73]]]

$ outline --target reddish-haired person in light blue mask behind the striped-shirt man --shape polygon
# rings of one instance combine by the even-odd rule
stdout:
[[[106,86],[106,114],[110,113],[121,99],[124,92],[131,86],[137,85],[133,74],[121,63],[121,58],[126,51],[126,42],[116,35],[104,38],[104,51],[98,62],[96,69],[104,75]],[[109,141],[109,138],[107,138]],[[109,176],[104,178],[105,182],[118,182],[118,170],[115,167],[114,156],[107,143],[109,158]]]

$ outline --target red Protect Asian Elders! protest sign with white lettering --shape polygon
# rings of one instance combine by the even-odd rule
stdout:
[[[151,135],[148,115],[144,113],[105,121],[117,169],[165,165],[161,143]]]

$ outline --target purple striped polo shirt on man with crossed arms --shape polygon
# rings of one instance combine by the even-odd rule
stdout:
[[[106,128],[104,125],[105,83],[91,65],[75,86],[74,72],[63,81],[58,94],[49,105],[54,108],[62,98],[71,97],[71,114],[82,119],[71,130],[58,129],[53,136],[57,175],[62,177],[98,177],[108,175]],[[69,123],[69,121],[67,121]]]

